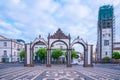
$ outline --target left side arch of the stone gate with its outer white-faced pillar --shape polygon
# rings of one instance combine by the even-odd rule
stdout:
[[[33,42],[25,44],[25,63],[24,66],[34,66],[34,62],[33,62],[33,57],[34,57],[34,46],[38,43],[42,43],[44,45],[46,45],[46,48],[48,47],[47,42],[44,40],[44,38],[41,38],[41,36],[39,36],[39,38],[36,38]]]

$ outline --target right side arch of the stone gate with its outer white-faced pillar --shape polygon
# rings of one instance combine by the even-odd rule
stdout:
[[[84,67],[88,67],[88,66],[93,66],[92,64],[92,45],[89,45],[87,43],[84,42],[84,40],[82,38],[80,38],[79,36],[73,40],[73,42],[70,45],[70,49],[72,49],[74,44],[81,44],[84,48]]]

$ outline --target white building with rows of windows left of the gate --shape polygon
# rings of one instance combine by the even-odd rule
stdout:
[[[24,44],[14,39],[0,36],[0,62],[17,62],[19,53],[24,50]]]

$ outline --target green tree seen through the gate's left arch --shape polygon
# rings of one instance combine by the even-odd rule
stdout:
[[[36,51],[36,55],[40,58],[41,63],[46,59],[47,50],[45,48],[40,48]]]

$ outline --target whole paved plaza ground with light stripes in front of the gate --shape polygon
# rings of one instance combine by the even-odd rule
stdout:
[[[0,64],[0,80],[120,80],[119,64],[81,64],[67,68],[66,65],[35,64],[24,67],[20,63]]]

